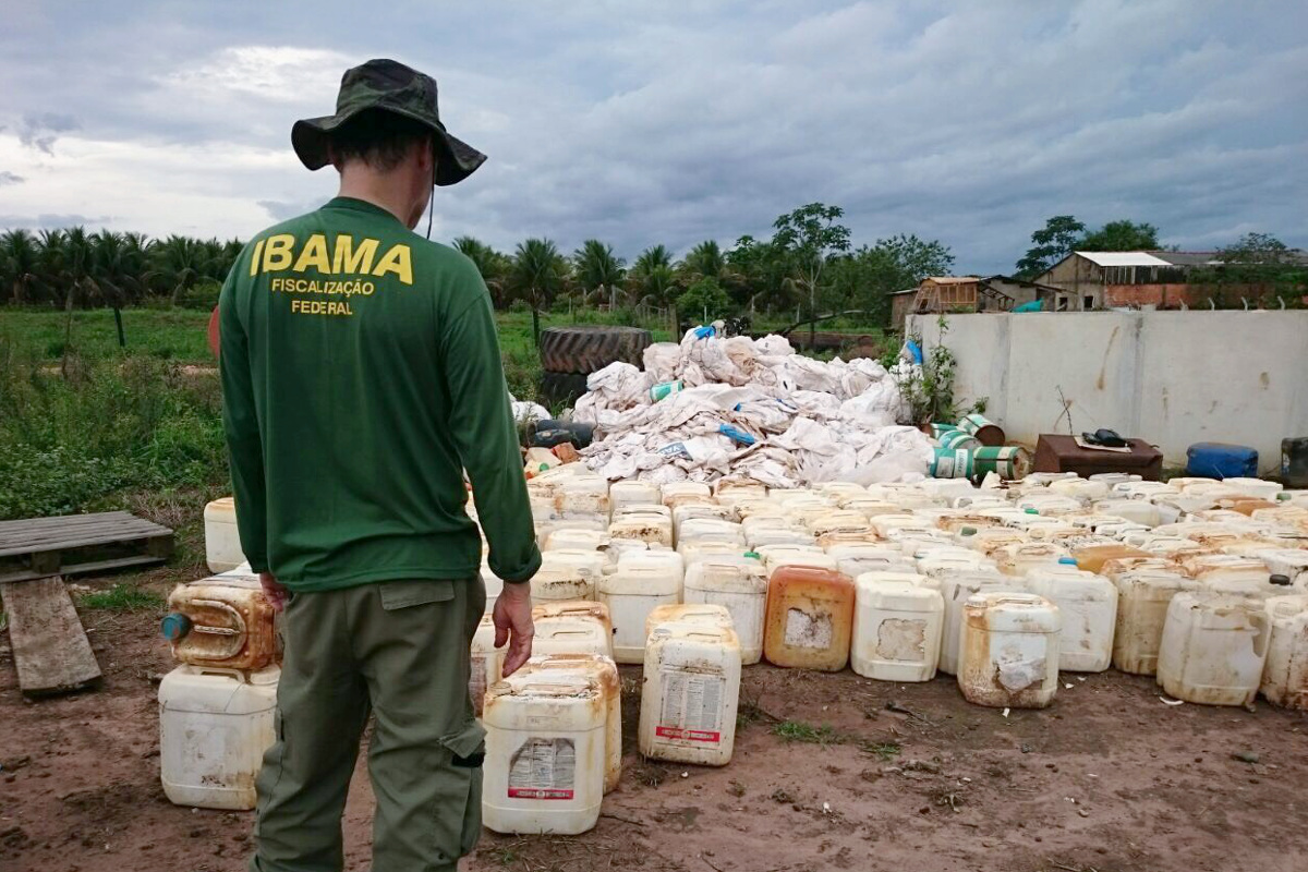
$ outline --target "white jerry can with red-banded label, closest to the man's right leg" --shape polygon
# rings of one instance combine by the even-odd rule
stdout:
[[[608,701],[579,672],[514,673],[487,692],[481,818],[496,833],[577,835],[604,796]]]

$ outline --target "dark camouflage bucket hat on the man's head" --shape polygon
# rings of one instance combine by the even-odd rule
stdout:
[[[327,166],[327,144],[337,127],[365,109],[396,112],[432,128],[436,141],[436,183],[468,178],[487,156],[450,136],[436,107],[436,80],[394,60],[370,60],[345,71],[336,95],[336,114],[306,118],[290,128],[290,144],[310,170]]]

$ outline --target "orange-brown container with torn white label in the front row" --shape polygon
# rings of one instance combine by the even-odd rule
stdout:
[[[829,569],[781,566],[768,584],[764,656],[778,667],[840,672],[849,662],[854,583]]]

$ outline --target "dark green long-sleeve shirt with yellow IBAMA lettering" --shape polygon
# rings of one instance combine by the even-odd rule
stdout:
[[[241,546],[292,591],[472,578],[463,469],[506,580],[540,566],[471,260],[336,197],[255,237],[220,299]]]

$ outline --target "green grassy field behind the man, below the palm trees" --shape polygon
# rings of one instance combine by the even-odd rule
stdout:
[[[127,309],[120,348],[110,310],[75,311],[69,331],[63,311],[0,307],[0,520],[127,509],[179,528],[184,558],[204,502],[229,489],[208,318]],[[542,326],[620,318],[562,312]],[[531,314],[497,320],[509,388],[535,399]]]

